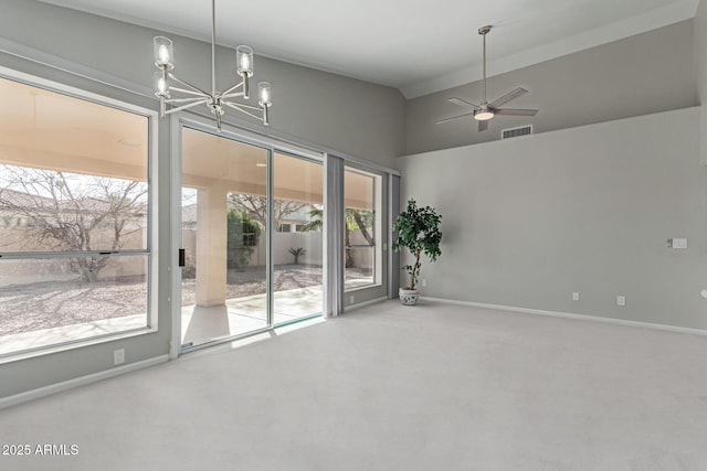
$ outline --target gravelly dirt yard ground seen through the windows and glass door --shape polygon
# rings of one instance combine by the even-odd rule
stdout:
[[[347,279],[369,277],[347,269]],[[194,303],[196,280],[182,281],[182,303]],[[265,292],[263,267],[231,269],[226,276],[229,299]],[[321,285],[321,267],[278,265],[274,269],[276,291]],[[147,286],[141,278],[117,281],[61,281],[0,287],[0,336],[57,328],[101,319],[147,312]]]

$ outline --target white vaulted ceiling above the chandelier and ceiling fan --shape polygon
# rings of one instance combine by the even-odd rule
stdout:
[[[209,0],[43,0],[211,41]],[[400,88],[408,97],[693,18],[699,0],[217,1],[217,42]]]

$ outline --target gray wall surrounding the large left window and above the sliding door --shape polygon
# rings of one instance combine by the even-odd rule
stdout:
[[[151,96],[152,45],[159,32],[32,0],[2,0],[0,44],[29,51],[68,71],[103,77],[107,84],[0,53],[0,66],[75,86],[88,92],[157,109]],[[210,87],[210,46],[168,34],[175,41],[176,73],[182,79]],[[220,49],[218,83],[230,86],[232,51]],[[387,167],[404,149],[404,99],[392,88],[321,73],[264,57],[255,58],[255,79],[273,83],[272,126],[265,130],[314,143]],[[112,85],[120,85],[126,89]],[[138,93],[135,93],[137,90]],[[140,95],[143,93],[144,95]],[[147,95],[147,96],[145,96]],[[228,119],[264,130],[261,125]],[[159,124],[160,238],[159,332],[99,343],[78,350],[0,364],[0,397],[113,368],[113,351],[126,349],[126,364],[166,355],[171,331],[168,260],[175,259],[169,227],[169,121]],[[376,292],[361,293],[374,296]]]

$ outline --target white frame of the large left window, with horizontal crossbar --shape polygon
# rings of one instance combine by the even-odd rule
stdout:
[[[95,345],[119,339],[131,338],[136,335],[143,335],[147,333],[155,333],[158,331],[158,274],[159,274],[159,259],[158,259],[158,119],[157,111],[133,105],[123,100],[110,98],[101,94],[88,92],[82,88],[73,87],[62,84],[60,82],[50,81],[35,75],[30,75],[23,72],[19,72],[12,68],[0,66],[0,78],[20,83],[30,87],[41,88],[51,93],[60,94],[66,97],[78,99],[82,101],[92,103],[98,106],[104,106],[119,111],[129,113],[146,118],[147,125],[147,162],[146,162],[146,181],[147,184],[147,227],[146,227],[146,244],[141,249],[125,249],[125,250],[85,250],[85,251],[4,251],[0,253],[0,260],[22,260],[22,259],[61,259],[70,257],[124,257],[124,256],[144,256],[147,267],[146,272],[146,319],[145,327],[137,329],[127,329],[116,332],[108,332],[98,335],[92,335],[86,338],[77,338],[56,342],[46,345],[39,345],[35,347],[29,347],[23,350],[15,350],[8,353],[0,353],[0,364],[14,362],[19,360],[25,360],[29,357],[48,355],[66,350],[80,349],[83,346]]]

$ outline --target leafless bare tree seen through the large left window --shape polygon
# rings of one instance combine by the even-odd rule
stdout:
[[[21,239],[33,251],[115,251],[146,225],[147,184],[61,171],[0,165],[0,212],[22,218]],[[96,281],[108,257],[68,259],[72,271]]]

